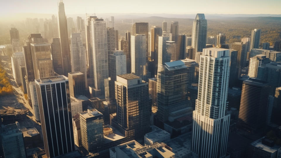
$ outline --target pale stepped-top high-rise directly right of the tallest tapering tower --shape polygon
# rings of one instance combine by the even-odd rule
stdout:
[[[87,84],[86,52],[84,51],[82,36],[80,33],[71,33],[71,70],[81,72],[85,76],[85,88]]]

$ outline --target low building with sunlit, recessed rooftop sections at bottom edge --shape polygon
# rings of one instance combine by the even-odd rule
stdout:
[[[117,145],[110,148],[110,158],[138,158],[138,157],[159,157],[159,158],[175,158],[172,148],[165,143],[154,143],[148,146],[142,146],[135,140]]]

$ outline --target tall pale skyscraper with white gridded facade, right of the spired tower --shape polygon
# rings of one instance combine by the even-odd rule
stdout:
[[[108,78],[106,22],[96,16],[87,16],[87,50],[89,79],[94,83],[94,97],[104,98],[104,79]]]

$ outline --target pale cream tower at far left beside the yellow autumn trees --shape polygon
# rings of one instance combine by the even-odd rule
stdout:
[[[20,82],[20,66],[25,65],[23,52],[13,53],[13,56],[11,56],[11,63],[12,63],[14,80],[16,81],[16,84],[18,86],[20,86],[21,85],[21,82]]]

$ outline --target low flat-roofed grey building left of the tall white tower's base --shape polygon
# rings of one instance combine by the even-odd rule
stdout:
[[[161,143],[161,142],[170,140],[170,138],[171,138],[170,133],[168,133],[164,130],[161,130],[158,127],[155,127],[155,128],[157,128],[157,130],[145,134],[145,136],[144,136],[145,145],[152,145],[156,142]]]

